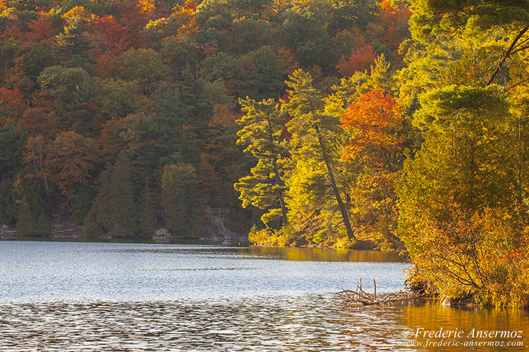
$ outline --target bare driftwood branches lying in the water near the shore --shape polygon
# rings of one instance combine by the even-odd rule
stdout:
[[[398,292],[391,292],[388,294],[379,294],[376,295],[376,281],[373,279],[374,290],[370,294],[362,290],[362,279],[357,283],[356,290],[342,290],[340,292],[335,292],[346,301],[346,305],[379,305],[383,303],[395,303],[403,301],[412,301],[416,298],[419,298],[417,294],[412,292],[403,292],[399,290]]]

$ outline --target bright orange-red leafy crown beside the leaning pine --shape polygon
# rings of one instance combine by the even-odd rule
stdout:
[[[389,167],[392,156],[403,148],[401,107],[391,95],[370,91],[357,98],[341,117],[342,127],[350,132],[342,159],[360,159],[373,167]]]

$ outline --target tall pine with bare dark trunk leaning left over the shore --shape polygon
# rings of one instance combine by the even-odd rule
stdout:
[[[289,78],[286,84],[291,88],[290,99],[285,106],[292,117],[287,127],[292,134],[293,153],[323,160],[347,235],[349,239],[356,239],[333,172],[331,158],[338,144],[337,121],[324,113],[324,100],[313,88],[311,75],[296,70]]]

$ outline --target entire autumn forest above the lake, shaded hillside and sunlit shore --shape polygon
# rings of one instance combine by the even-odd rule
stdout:
[[[370,243],[528,305],[529,6],[0,0],[0,224]]]

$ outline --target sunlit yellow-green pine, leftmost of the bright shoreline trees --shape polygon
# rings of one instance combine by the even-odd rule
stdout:
[[[237,143],[245,145],[245,152],[254,155],[258,163],[251,168],[251,175],[240,178],[235,189],[240,192],[243,208],[251,204],[267,210],[261,218],[265,224],[280,213],[286,226],[289,221],[284,199],[284,167],[289,161],[286,159],[286,141],[282,140],[286,114],[274,99],[256,102],[247,97],[246,100],[239,99],[239,103],[246,114],[237,120],[243,126],[237,132]],[[278,201],[280,209],[277,208]]]

